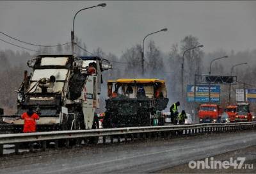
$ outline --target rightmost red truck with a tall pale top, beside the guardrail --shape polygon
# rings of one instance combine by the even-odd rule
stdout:
[[[252,122],[252,114],[250,113],[249,103],[237,104],[236,122]]]

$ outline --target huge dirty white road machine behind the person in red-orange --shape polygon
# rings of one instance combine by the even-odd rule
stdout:
[[[17,113],[1,116],[0,129],[20,132],[22,113],[32,108],[40,115],[37,131],[95,129],[102,71],[111,65],[99,57],[42,55],[28,61],[31,74],[17,90]]]

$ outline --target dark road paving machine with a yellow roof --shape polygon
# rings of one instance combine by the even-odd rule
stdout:
[[[114,88],[113,88],[114,86]],[[168,104],[165,82],[159,79],[108,81],[104,128],[163,125]]]

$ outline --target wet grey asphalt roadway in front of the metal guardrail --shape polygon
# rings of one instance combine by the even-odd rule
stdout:
[[[84,146],[0,159],[0,173],[154,173],[256,145],[256,131]],[[11,159],[12,158],[12,159]]]

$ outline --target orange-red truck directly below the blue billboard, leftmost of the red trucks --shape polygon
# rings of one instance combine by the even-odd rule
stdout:
[[[198,111],[200,123],[220,122],[223,109],[218,104],[201,104]]]

